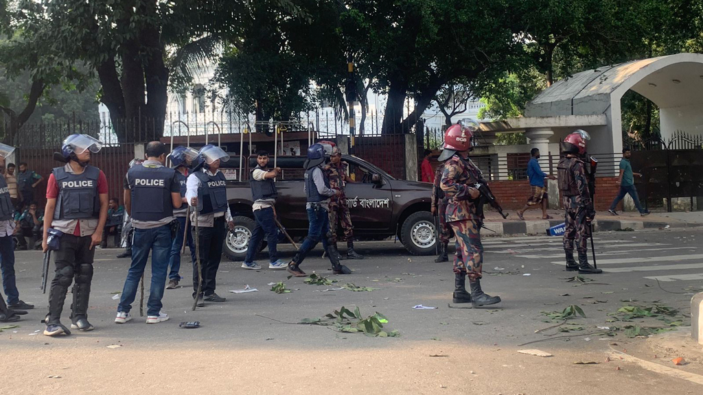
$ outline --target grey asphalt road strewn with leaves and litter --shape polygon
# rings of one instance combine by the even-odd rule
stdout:
[[[112,297],[122,290],[130,262],[115,258],[119,250],[98,250],[89,309],[96,330],[74,331],[64,338],[44,337],[41,332],[34,335],[43,330],[39,320],[46,313],[46,295],[39,290],[41,253],[18,252],[20,297],[37,309],[25,316],[20,328],[0,333],[0,349],[5,354],[0,370],[10,372],[6,388],[13,389],[0,386],[0,394],[46,390],[123,393],[117,387],[124,380],[154,393],[217,393],[234,385],[252,393],[287,394],[323,389],[339,393],[655,394],[663,385],[681,394],[699,393],[697,384],[685,380],[625,362],[606,363],[605,352],[610,347],[635,347],[643,339],[629,339],[623,330],[608,337],[598,327],[661,326],[663,321],[652,318],[608,322],[621,306],[647,307],[655,302],[680,309],[681,314],[671,320],[689,325],[690,296],[703,289],[702,238],[703,231],[695,230],[597,233],[598,266],[605,273],[584,276],[586,283],[579,283],[567,280],[574,273],[564,271],[560,238],[487,237],[482,284],[485,292],[500,295],[503,302],[484,309],[449,308],[451,262],[435,264],[434,257],[409,256],[399,243],[360,242],[357,249],[367,259],[345,262],[354,269],[349,276],[330,276],[320,247],[302,265],[308,274],[316,271],[339,280],[333,285],[307,285],[302,278],[286,280],[285,271],[249,271],[240,268],[240,262],[224,260],[217,292],[227,302],[191,311],[193,290],[186,254],[181,267],[183,286],[165,292],[164,310],[170,320],[157,325],[146,325],[146,317],[139,317],[138,301],[132,310],[134,320],[124,325],[112,322],[117,306]],[[283,259],[292,257],[292,248],[280,249]],[[258,261],[264,266],[266,252]],[[271,292],[268,284],[280,280],[292,292]],[[377,289],[335,290],[344,283]],[[228,292],[245,285],[258,291]],[[437,309],[413,309],[420,304]],[[542,311],[561,311],[572,304],[580,306],[586,318],[569,323],[583,329],[544,330],[561,321],[543,322]],[[69,306],[70,300],[63,314],[65,324],[70,323]],[[342,306],[358,307],[363,316],[376,311],[384,314],[389,321],[385,328],[398,330],[401,336],[366,337],[316,325],[288,324],[321,317]],[[178,326],[193,320],[200,321],[201,328]],[[560,336],[573,337],[553,339]],[[551,340],[521,346],[545,339]],[[106,348],[112,344],[122,347]],[[517,349],[526,348],[542,349],[554,357],[517,354]],[[599,363],[573,365],[584,360]],[[139,370],[142,375],[133,374]],[[49,375],[62,378],[48,379]]]

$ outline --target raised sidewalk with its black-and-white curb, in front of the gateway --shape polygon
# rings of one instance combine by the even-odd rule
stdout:
[[[564,222],[562,210],[547,210],[553,219],[542,219],[540,209],[529,210],[523,214],[524,221],[517,218],[514,210],[506,212],[507,219],[492,210],[486,211],[485,226],[491,231],[484,231],[483,235],[546,235],[547,229]],[[619,212],[618,216],[609,212],[597,212],[593,221],[594,230],[619,231],[625,228],[634,230],[651,228],[686,228],[703,226],[703,212],[652,212],[647,216],[640,216],[638,212]],[[561,237],[561,236],[558,236]]]

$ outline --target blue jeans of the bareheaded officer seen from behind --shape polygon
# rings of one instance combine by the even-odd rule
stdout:
[[[149,301],[146,306],[149,316],[158,316],[161,311],[161,298],[166,287],[166,272],[169,267],[169,254],[171,252],[171,226],[164,225],[153,229],[134,229],[134,243],[132,244],[132,263],[124,280],[122,297],[117,311],[129,313],[131,303],[134,302],[139,280],[146,268],[146,261],[151,254],[151,287],[149,288]]]

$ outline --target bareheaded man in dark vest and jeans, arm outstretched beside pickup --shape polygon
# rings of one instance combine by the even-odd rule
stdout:
[[[269,268],[273,270],[285,269],[286,262],[278,259],[278,226],[276,226],[276,183],[273,182],[280,167],[268,169],[269,153],[259,150],[257,153],[257,167],[249,175],[249,186],[252,188],[252,212],[254,213],[254,231],[247,245],[247,256],[242,263],[243,268],[262,268],[254,262],[254,257],[259,252],[259,244],[266,235],[266,246],[269,247]]]

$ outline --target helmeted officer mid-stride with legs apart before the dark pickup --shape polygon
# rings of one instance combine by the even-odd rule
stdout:
[[[340,190],[330,188],[330,180],[325,176],[322,170],[322,164],[325,162],[325,148],[321,144],[313,144],[308,148],[307,160],[303,167],[305,168],[305,196],[307,197],[307,216],[309,222],[308,235],[303,241],[298,252],[293,257],[293,260],[288,264],[288,272],[296,277],[306,276],[299,265],[307,257],[307,254],[317,245],[322,239],[322,246],[327,252],[327,256],[332,263],[332,271],[335,274],[352,273],[347,266],[340,264],[340,253],[334,247],[334,244],[329,242],[332,233],[330,233],[330,219],[328,216],[328,205],[330,197],[340,195]]]

